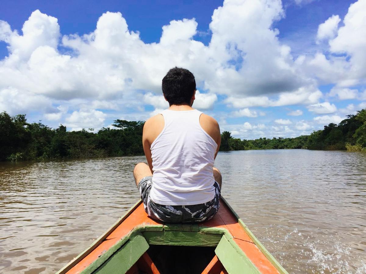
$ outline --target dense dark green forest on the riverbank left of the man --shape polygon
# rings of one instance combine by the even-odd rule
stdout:
[[[0,113],[0,161],[143,155],[144,122],[115,120],[118,129],[67,131],[27,123],[26,115]]]

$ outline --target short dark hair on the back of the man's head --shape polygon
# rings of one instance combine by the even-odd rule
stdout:
[[[172,104],[190,104],[196,90],[196,81],[188,69],[175,67],[169,69],[167,75],[164,76],[161,88],[169,106]]]

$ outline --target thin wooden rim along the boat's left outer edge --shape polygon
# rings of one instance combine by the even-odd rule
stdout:
[[[138,201],[135,203],[121,218],[119,218],[115,224],[112,225],[103,235],[101,235],[97,240],[94,241],[86,250],[81,252],[78,256],[76,256],[70,263],[60,269],[56,274],[64,274],[69,271],[72,267],[74,267],[78,262],[84,259],[91,251],[93,251],[105,238],[108,237],[109,234],[112,233],[130,214],[142,203],[142,201]]]

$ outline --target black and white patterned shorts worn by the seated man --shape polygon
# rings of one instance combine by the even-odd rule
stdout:
[[[213,184],[215,197],[209,202],[198,205],[159,205],[150,199],[152,179],[152,176],[142,178],[138,184],[138,189],[146,213],[155,220],[171,223],[203,222],[212,219],[220,208],[220,186],[216,181]]]

